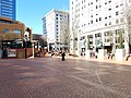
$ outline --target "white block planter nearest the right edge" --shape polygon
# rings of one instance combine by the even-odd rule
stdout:
[[[126,54],[126,49],[116,49],[116,61],[122,61]]]

